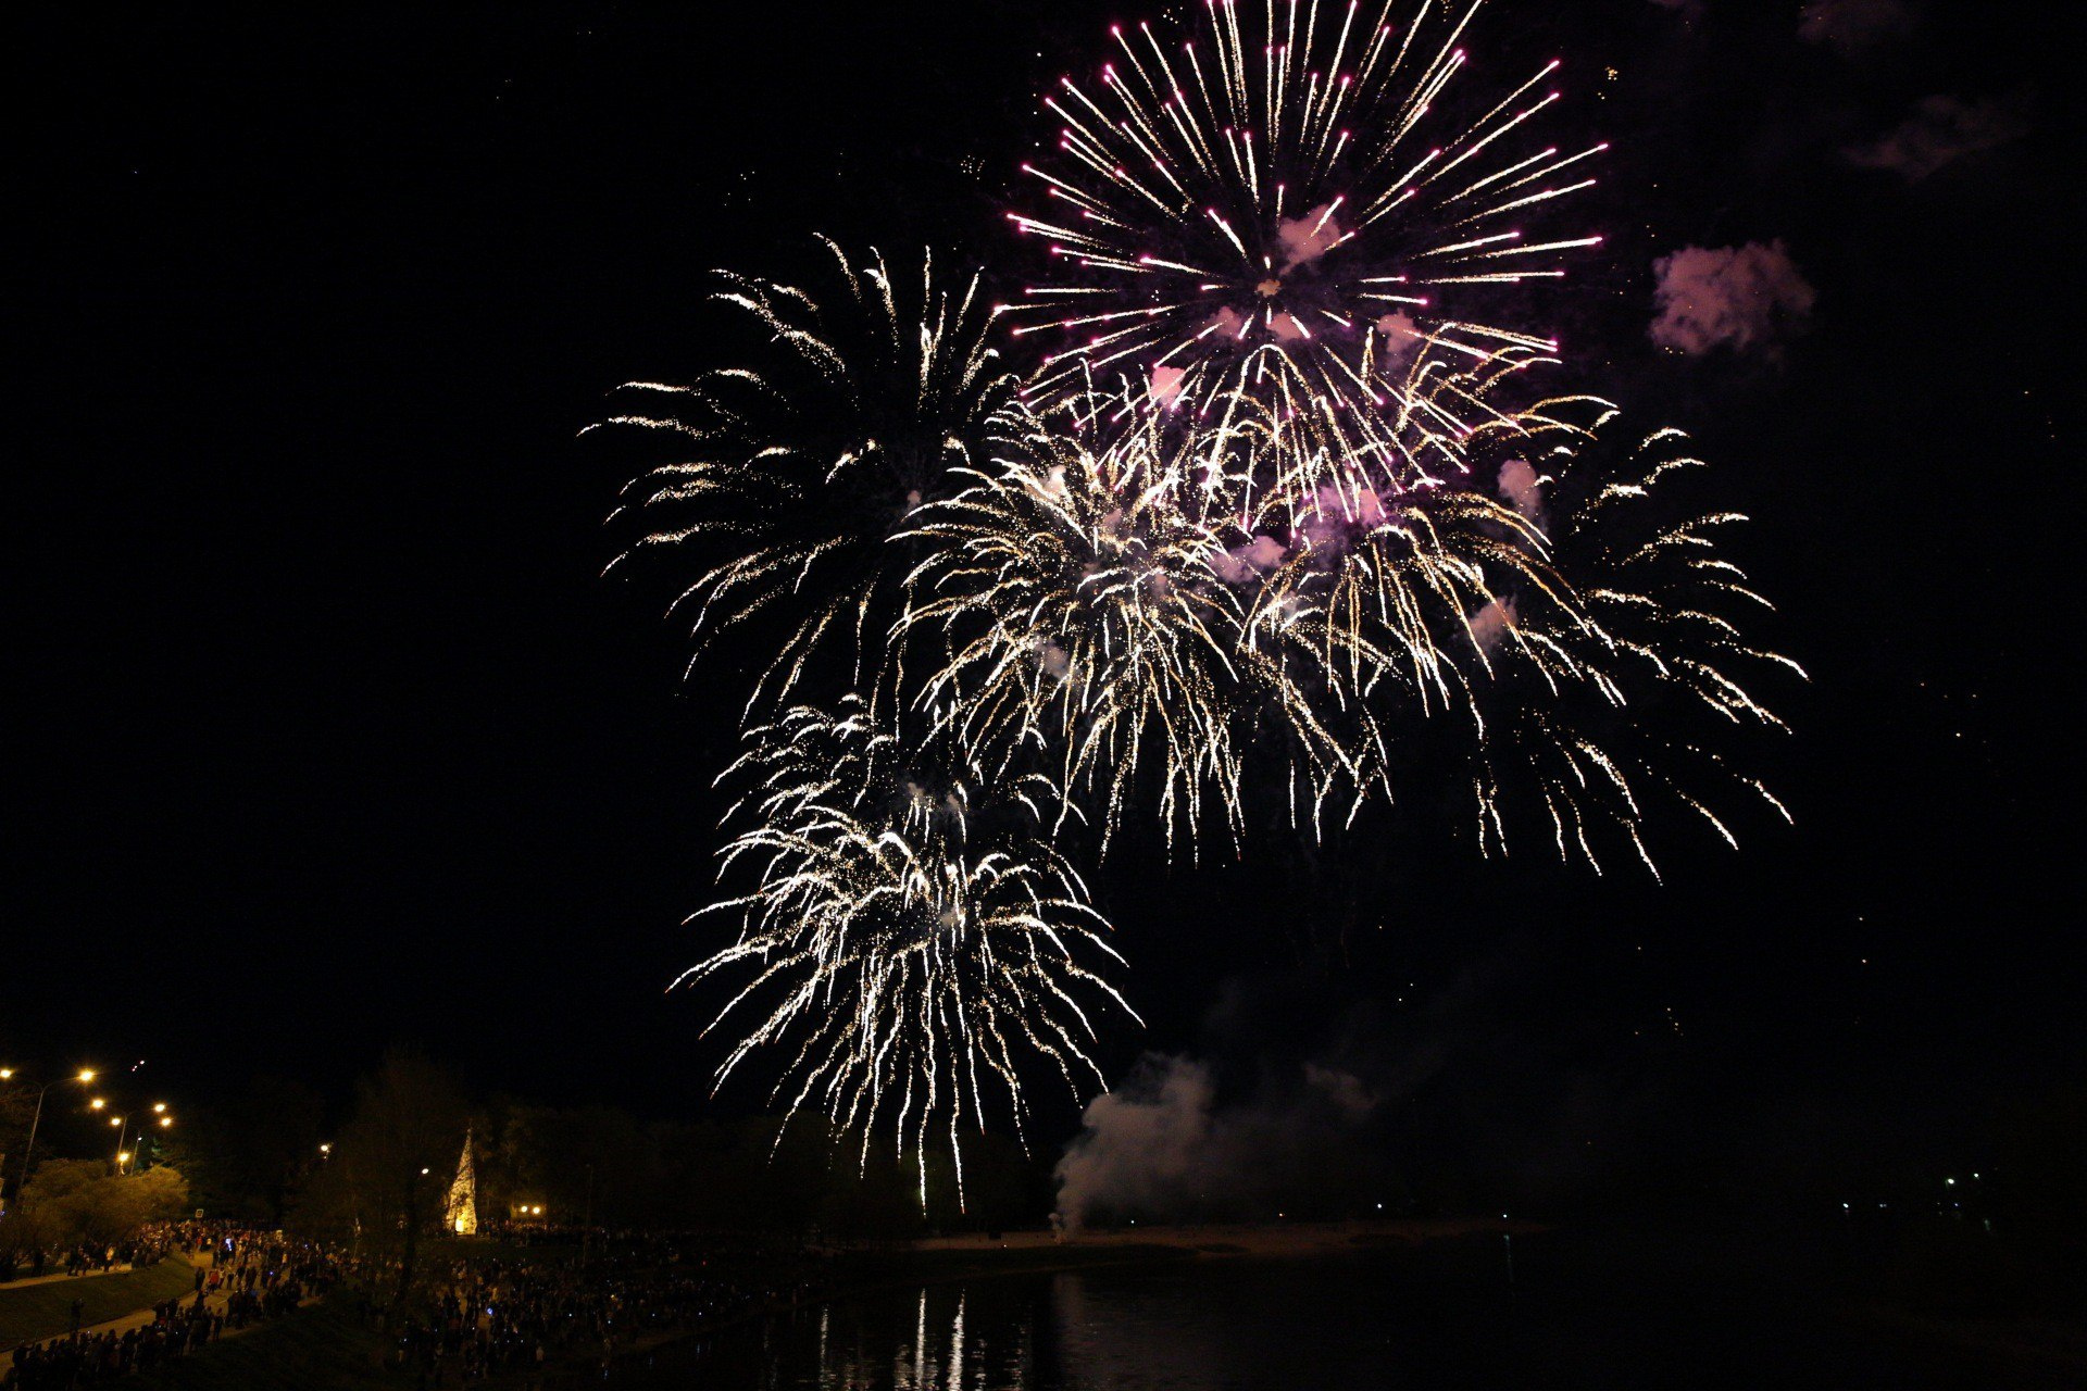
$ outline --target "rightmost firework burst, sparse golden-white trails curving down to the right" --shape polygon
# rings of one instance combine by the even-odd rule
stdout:
[[[1490,680],[1473,684],[1471,703],[1482,849],[1507,853],[1503,803],[1517,788],[1542,807],[1559,857],[1597,870],[1594,843],[1607,830],[1659,874],[1642,836],[1657,799],[1736,847],[1701,782],[1757,797],[1789,820],[1713,747],[1732,728],[1782,730],[1753,688],[1805,678],[1741,632],[1749,611],[1772,607],[1718,551],[1718,532],[1745,517],[1668,501],[1707,467],[1680,430],[1632,442],[1620,411],[1590,396],[1538,402],[1528,419],[1530,438],[1501,465],[1498,488],[1551,536],[1582,621],[1555,621],[1544,592],[1507,599]]]

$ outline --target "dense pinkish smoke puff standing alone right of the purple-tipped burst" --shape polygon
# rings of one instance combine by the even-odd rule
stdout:
[[[1718,346],[1774,352],[1782,338],[1805,327],[1818,298],[1780,240],[1684,246],[1655,261],[1653,273],[1659,282],[1653,342],[1690,357]]]

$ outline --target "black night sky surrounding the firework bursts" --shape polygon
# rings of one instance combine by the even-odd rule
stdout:
[[[1110,1039],[1119,1072],[1190,1051],[1250,1093],[1309,1057],[1380,1080],[1425,1057],[1415,1116],[1530,1166],[1663,1116],[1939,1164],[2079,1078],[2056,54],[2081,35],[1935,0],[1841,52],[1797,8],[1498,0],[1471,44],[1563,54],[1561,125],[1615,142],[1561,334],[1580,384],[1693,432],[1755,519],[1764,636],[1812,674],[1759,749],[1795,828],[1741,815],[1741,853],[1655,828],[1663,884],[1542,863],[1540,836],[1505,865],[1450,834],[1338,872],[1133,855],[1098,880],[1150,1022]],[[578,432],[618,382],[718,361],[714,267],[787,277],[831,231],[1014,275],[1035,94],[1144,15],[29,21],[0,1055],[148,1059],[207,1099],[263,1070],[338,1093],[403,1041],[482,1093],[701,1112],[701,1001],[664,986],[701,949],[678,924],[733,674],[680,684],[662,590],[601,578],[632,455]],[[1937,94],[2018,129],[1914,181],[1843,154]],[[1655,257],[1774,240],[1818,292],[1805,332],[1649,342]]]

